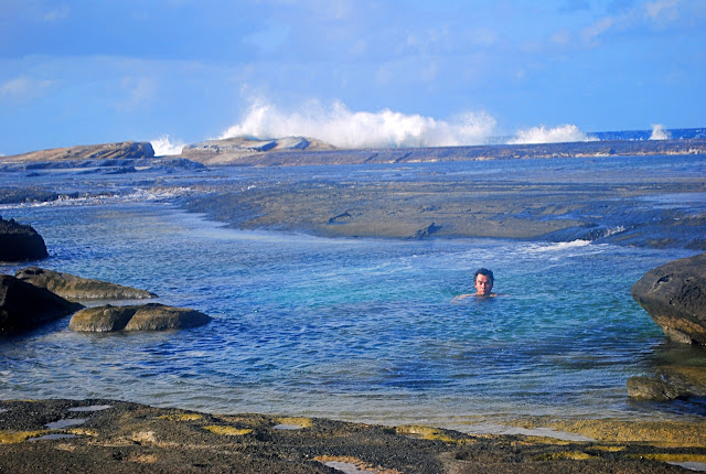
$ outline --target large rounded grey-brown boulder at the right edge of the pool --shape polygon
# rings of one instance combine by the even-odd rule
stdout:
[[[706,254],[650,270],[630,292],[667,337],[706,344]]]

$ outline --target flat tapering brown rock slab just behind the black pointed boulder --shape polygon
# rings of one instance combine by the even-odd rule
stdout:
[[[39,267],[18,270],[15,278],[69,300],[143,300],[157,294],[136,288],[76,277]]]

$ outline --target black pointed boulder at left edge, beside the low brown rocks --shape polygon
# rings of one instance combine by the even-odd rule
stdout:
[[[45,288],[0,274],[0,330],[28,330],[84,308]]]

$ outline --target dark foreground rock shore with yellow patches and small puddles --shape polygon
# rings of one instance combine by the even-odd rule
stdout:
[[[528,425],[536,423],[557,424],[527,420]],[[278,428],[282,425],[289,428]],[[327,419],[208,414],[115,400],[0,401],[0,471],[334,473],[341,472],[334,467],[347,467],[381,474],[672,473],[683,471],[668,463],[706,461],[703,423],[568,425],[607,435],[561,441]]]

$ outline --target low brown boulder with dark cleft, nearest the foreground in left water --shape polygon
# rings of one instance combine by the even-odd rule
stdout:
[[[186,308],[149,303],[129,306],[106,304],[86,308],[74,314],[68,323],[72,331],[168,331],[202,326],[212,317]]]

